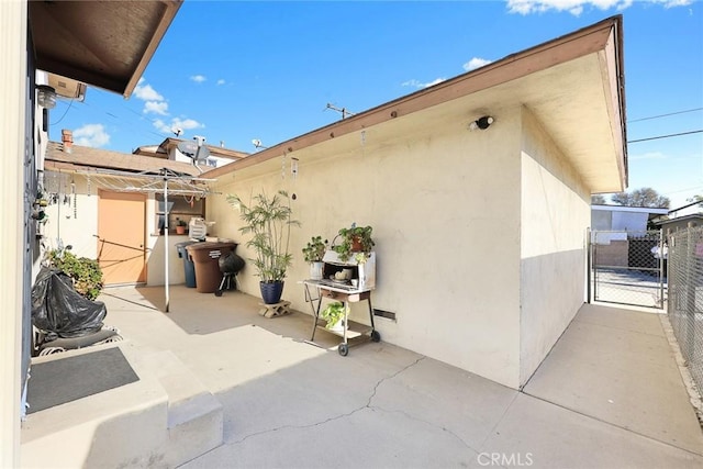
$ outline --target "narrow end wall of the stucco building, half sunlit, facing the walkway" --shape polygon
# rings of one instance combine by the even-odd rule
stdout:
[[[588,189],[526,109],[522,175],[521,386],[583,303],[591,216]]]

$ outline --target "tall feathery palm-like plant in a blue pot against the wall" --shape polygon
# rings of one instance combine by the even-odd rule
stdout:
[[[249,258],[260,278],[261,298],[266,304],[276,304],[283,292],[283,279],[293,256],[289,250],[291,226],[300,226],[292,220],[288,192],[279,190],[269,197],[266,192],[252,197],[245,203],[238,196],[227,196],[227,202],[239,210],[244,225],[242,234],[250,234],[246,246],[256,257]]]

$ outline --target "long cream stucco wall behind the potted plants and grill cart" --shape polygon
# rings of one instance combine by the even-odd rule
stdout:
[[[297,283],[309,276],[300,252],[305,242],[316,234],[332,241],[352,222],[372,225],[373,306],[397,314],[395,322],[377,319],[382,340],[516,387],[520,111],[502,112],[488,131],[431,124],[380,142],[373,130],[356,134],[358,146],[343,153],[334,142],[321,144],[324,150],[301,149],[271,163],[267,174],[253,167],[224,176],[217,190],[244,198],[261,189],[295,193],[302,227],[291,238],[294,265],[283,292],[295,310],[310,313]],[[208,220],[216,221],[219,236],[246,241],[224,196],[209,198]],[[244,245],[237,253],[252,256]],[[239,280],[244,291],[259,295],[250,267]],[[353,314],[365,319],[365,306]]]

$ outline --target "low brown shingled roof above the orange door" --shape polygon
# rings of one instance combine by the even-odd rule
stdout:
[[[193,165],[169,159],[152,158],[111,152],[88,146],[72,145],[71,153],[64,152],[64,145],[57,142],[49,142],[46,147],[44,159],[45,169],[70,170],[70,171],[99,171],[100,169],[111,169],[131,172],[158,174],[166,168],[176,172],[199,176],[200,170]]]

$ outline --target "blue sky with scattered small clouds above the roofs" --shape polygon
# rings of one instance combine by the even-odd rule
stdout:
[[[59,100],[51,139],[131,153],[182,138],[255,152],[488,62],[624,16],[628,141],[703,130],[703,3],[186,0],[129,100]],[[660,116],[663,114],[672,114]],[[660,118],[657,118],[660,116]],[[649,119],[655,118],[655,119]],[[703,194],[703,133],[631,143],[629,189]]]

